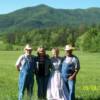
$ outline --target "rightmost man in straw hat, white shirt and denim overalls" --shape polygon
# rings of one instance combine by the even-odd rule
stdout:
[[[75,100],[75,81],[76,75],[80,69],[78,58],[72,54],[75,48],[71,45],[65,46],[66,56],[62,61],[62,77],[69,90],[69,100]]]

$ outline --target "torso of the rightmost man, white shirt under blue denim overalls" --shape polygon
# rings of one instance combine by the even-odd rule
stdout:
[[[80,63],[76,56],[66,57],[62,62],[62,77],[65,81],[68,80],[68,77],[71,76],[75,70],[80,69]]]

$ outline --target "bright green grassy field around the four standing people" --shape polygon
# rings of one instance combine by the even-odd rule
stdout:
[[[22,51],[0,51],[0,100],[17,100],[18,71],[15,62]],[[80,59],[81,70],[76,81],[78,100],[100,100],[100,53],[74,52]],[[61,52],[64,55],[64,52]],[[36,100],[34,86],[34,99]]]

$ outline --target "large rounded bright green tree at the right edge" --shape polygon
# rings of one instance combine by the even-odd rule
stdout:
[[[95,28],[91,28],[78,38],[76,45],[84,51],[97,52],[100,51],[99,41],[100,33]]]

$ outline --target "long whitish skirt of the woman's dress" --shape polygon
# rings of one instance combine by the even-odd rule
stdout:
[[[47,100],[68,100],[68,90],[59,71],[54,71],[48,81]]]

